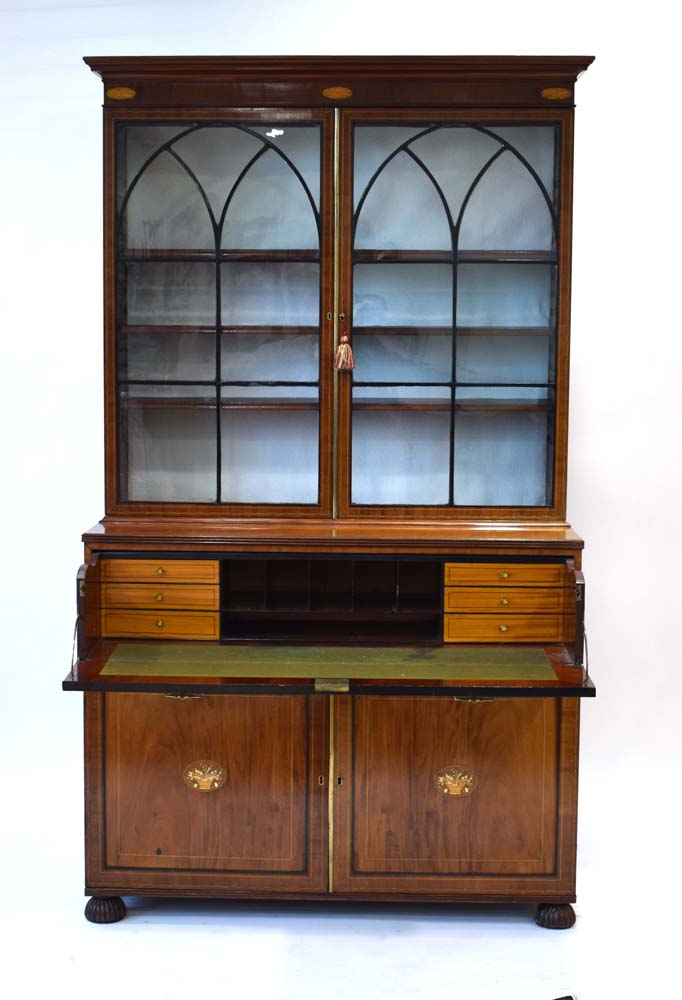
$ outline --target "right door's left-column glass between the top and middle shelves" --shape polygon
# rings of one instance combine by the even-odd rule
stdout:
[[[353,326],[450,326],[450,264],[357,264]]]

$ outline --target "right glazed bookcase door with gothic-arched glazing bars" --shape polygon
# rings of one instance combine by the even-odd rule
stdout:
[[[355,368],[340,376],[340,509],[551,510],[568,336],[561,123],[357,110],[342,144]]]

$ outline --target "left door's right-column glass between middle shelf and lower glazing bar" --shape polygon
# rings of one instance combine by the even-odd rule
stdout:
[[[316,382],[319,371],[317,334],[223,334],[225,381]]]

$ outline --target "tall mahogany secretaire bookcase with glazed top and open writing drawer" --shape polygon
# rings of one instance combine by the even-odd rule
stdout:
[[[590,57],[103,58],[86,907],[575,917]]]

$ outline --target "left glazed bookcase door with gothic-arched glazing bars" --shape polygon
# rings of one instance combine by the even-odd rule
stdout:
[[[329,113],[123,120],[112,139],[111,499],[326,513]]]

